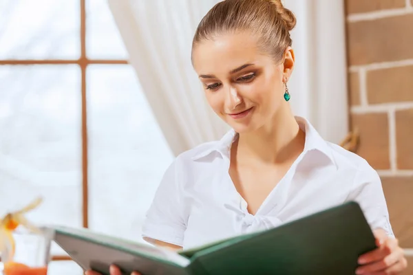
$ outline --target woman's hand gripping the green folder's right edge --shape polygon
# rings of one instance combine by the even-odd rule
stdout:
[[[400,274],[407,267],[403,249],[399,247],[399,241],[389,238],[384,230],[374,230],[376,243],[379,248],[363,254],[359,257],[361,265],[356,274]]]

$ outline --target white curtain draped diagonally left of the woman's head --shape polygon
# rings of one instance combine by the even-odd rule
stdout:
[[[109,0],[109,6],[160,128],[178,155],[218,140],[217,118],[191,65],[191,42],[217,0]]]

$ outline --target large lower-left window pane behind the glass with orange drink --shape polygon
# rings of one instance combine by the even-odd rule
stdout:
[[[28,219],[82,225],[79,71],[0,66],[0,217],[41,195]]]

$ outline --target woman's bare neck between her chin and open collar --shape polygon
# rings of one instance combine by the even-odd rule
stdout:
[[[266,163],[283,163],[304,150],[305,133],[288,104],[280,108],[267,125],[254,132],[242,133],[237,141],[237,156]]]

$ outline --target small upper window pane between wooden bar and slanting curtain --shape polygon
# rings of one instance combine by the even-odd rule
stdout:
[[[86,1],[87,56],[96,59],[127,59],[118,28],[107,0]]]

